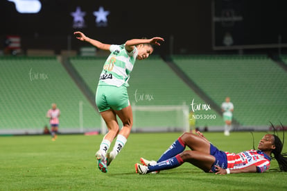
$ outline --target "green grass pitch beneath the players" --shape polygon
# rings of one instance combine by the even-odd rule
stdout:
[[[254,133],[255,148],[265,133]],[[272,170],[215,175],[184,163],[159,174],[135,173],[139,158],[157,160],[180,135],[132,133],[106,174],[94,157],[103,135],[59,135],[55,142],[49,135],[0,137],[0,190],[287,190],[287,173]],[[249,132],[205,136],[223,151],[252,149]],[[277,167],[272,160],[271,169]]]

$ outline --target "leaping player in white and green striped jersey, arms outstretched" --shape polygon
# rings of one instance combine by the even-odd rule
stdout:
[[[96,152],[96,159],[101,172],[107,172],[107,166],[125,146],[132,128],[132,108],[127,92],[130,72],[136,60],[148,58],[153,53],[152,45],[159,46],[159,41],[164,39],[159,37],[132,39],[126,41],[125,44],[115,45],[88,38],[80,31],[75,32],[74,35],[78,40],[89,42],[98,49],[111,52],[103,66],[96,90],[96,105],[108,128],[100,149]],[[116,115],[123,123],[121,130]],[[112,151],[107,152],[114,138],[116,138],[114,147]]]

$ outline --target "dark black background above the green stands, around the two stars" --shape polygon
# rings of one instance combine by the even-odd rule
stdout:
[[[90,38],[109,44],[161,36],[165,42],[156,50],[161,54],[238,53],[238,50],[276,53],[279,36],[281,51],[286,49],[287,3],[283,0],[40,1],[42,10],[37,14],[17,13],[15,3],[0,1],[0,40],[3,42],[0,49],[5,47],[6,35],[19,35],[24,52],[26,49],[53,49],[56,53],[62,49],[78,51],[84,44],[73,37],[73,31],[82,31]],[[228,27],[214,22],[213,3],[216,16],[232,8],[243,21]],[[77,6],[86,12],[85,28],[73,28],[71,12],[76,11]],[[93,12],[100,6],[110,11],[106,27],[95,24]],[[230,47],[222,44],[226,31],[234,38]]]

